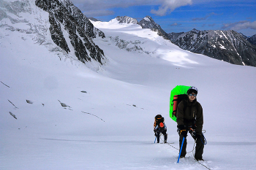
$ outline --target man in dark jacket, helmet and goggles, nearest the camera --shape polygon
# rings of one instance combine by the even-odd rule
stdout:
[[[191,87],[187,90],[187,98],[178,104],[177,109],[177,126],[179,134],[179,145],[184,138],[184,144],[181,150],[181,158],[184,158],[187,154],[187,132],[191,134],[193,139],[196,140],[195,146],[195,159],[197,161],[203,161],[203,147],[204,136],[202,134],[203,128],[203,108],[197,101],[197,88]]]

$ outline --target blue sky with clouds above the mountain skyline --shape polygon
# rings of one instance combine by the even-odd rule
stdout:
[[[87,17],[151,16],[167,33],[230,30],[256,34],[256,0],[71,0]]]

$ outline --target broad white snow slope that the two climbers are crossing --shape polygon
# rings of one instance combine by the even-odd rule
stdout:
[[[0,28],[0,169],[255,169],[255,67],[181,50],[138,25],[94,26],[108,58],[97,72],[35,43],[36,34]],[[199,89],[205,166],[193,160],[190,136],[176,163],[176,85]],[[173,147],[154,144],[157,114]]]

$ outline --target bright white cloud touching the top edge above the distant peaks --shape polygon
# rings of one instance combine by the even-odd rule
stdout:
[[[192,4],[192,0],[162,0],[158,10],[152,9],[151,13],[159,16],[167,15],[174,9]]]

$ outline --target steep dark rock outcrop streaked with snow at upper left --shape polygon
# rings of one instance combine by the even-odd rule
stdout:
[[[56,45],[69,53],[67,41],[70,41],[79,61],[86,63],[92,58],[102,63],[103,50],[92,39],[97,35],[104,38],[105,34],[94,28],[78,7],[69,0],[36,0],[35,4],[49,13],[50,34]],[[68,38],[64,36],[64,31],[68,33]]]

